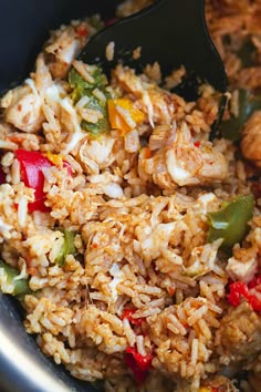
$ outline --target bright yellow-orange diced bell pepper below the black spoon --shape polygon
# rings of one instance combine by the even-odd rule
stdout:
[[[108,100],[108,118],[113,130],[119,130],[123,133],[132,131],[137,124],[140,124],[144,121],[144,113],[138,109],[134,107],[134,104],[129,100],[118,99],[118,100]],[[135,124],[130,124],[124,118],[124,114],[119,113],[122,109],[126,112],[126,115],[130,117],[132,122]]]

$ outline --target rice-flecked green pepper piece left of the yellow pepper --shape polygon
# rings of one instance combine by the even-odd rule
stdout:
[[[69,73],[69,83],[73,89],[72,99],[76,104],[83,96],[88,97],[88,102],[85,104],[85,109],[95,110],[102,113],[103,117],[97,121],[96,124],[82,121],[81,126],[91,132],[93,135],[97,135],[103,132],[107,132],[109,128],[108,124],[108,113],[107,113],[107,99],[111,97],[106,91],[107,79],[103,73],[102,69],[97,65],[87,65],[88,72],[93,78],[93,82],[87,82],[79,74],[75,69],[72,69]],[[100,100],[95,94],[94,90],[98,89],[102,94],[105,96],[105,100]]]

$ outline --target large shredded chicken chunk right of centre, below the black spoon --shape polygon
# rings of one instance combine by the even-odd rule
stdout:
[[[144,152],[140,153],[138,169],[143,179],[167,189],[177,185],[202,185],[228,176],[223,155],[215,151],[210,142],[195,145],[185,122],[155,155],[146,158]]]

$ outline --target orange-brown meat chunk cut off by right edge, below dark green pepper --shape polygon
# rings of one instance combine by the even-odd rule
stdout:
[[[242,154],[261,167],[261,111],[254,112],[244,125]]]

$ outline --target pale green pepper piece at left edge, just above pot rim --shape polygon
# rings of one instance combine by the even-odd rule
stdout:
[[[3,275],[6,276],[6,281],[12,288],[12,291],[8,290],[7,293],[12,296],[24,296],[30,292],[28,279],[15,279],[20,271],[13,267],[10,267],[8,264],[0,260],[0,269],[2,270]],[[1,290],[4,292],[4,286],[2,285]]]

